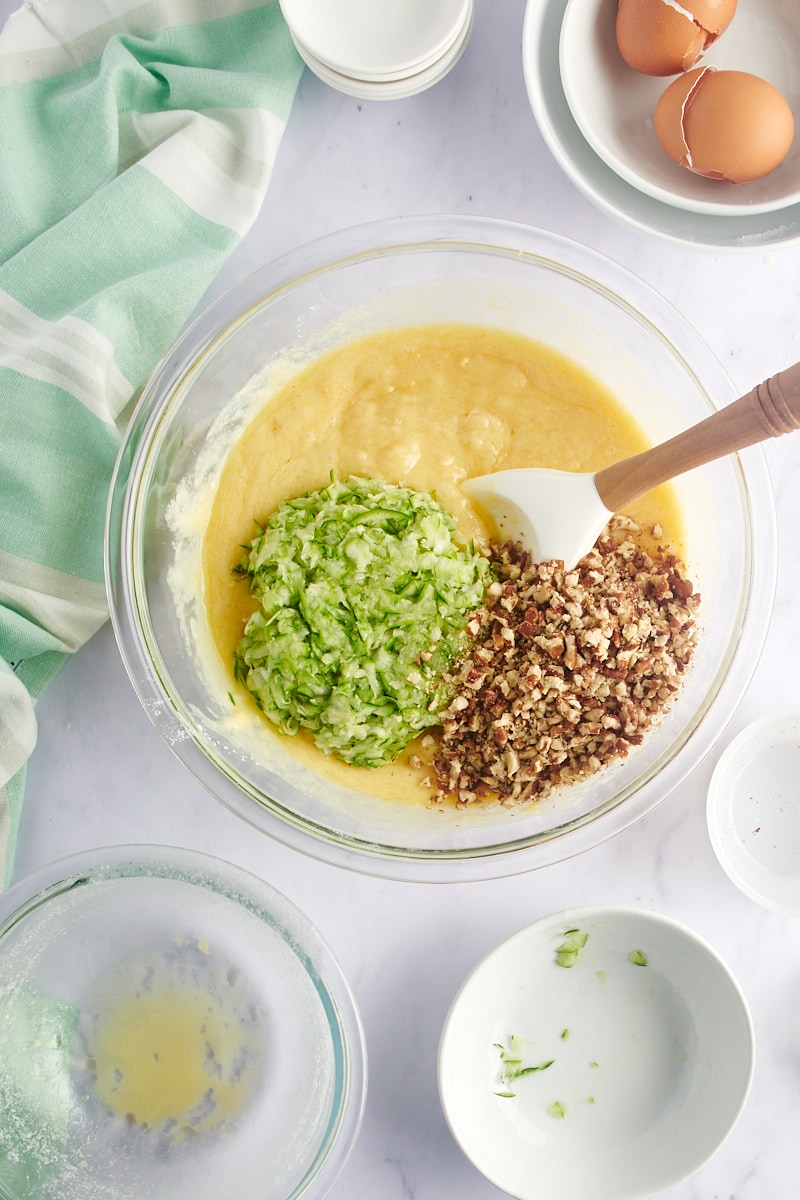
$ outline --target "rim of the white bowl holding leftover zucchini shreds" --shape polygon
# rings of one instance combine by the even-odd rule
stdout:
[[[446,1060],[450,1054],[449,1039],[451,1037],[452,1026],[459,1014],[461,1008],[469,998],[470,989],[473,988],[477,978],[480,978],[481,974],[489,972],[492,970],[493,962],[500,959],[511,947],[515,946],[515,943],[524,944],[527,940],[535,937],[537,931],[540,930],[547,930],[558,926],[560,926],[561,929],[572,929],[572,928],[581,929],[584,928],[588,923],[607,924],[608,922],[620,918],[621,919],[634,918],[636,920],[645,925],[651,924],[661,926],[662,929],[668,930],[672,935],[678,936],[679,938],[684,938],[688,942],[692,942],[697,947],[697,949],[699,949],[709,959],[709,961],[714,965],[715,970],[717,971],[720,978],[727,986],[728,995],[730,996],[732,1001],[736,1004],[739,1014],[742,1018],[745,1042],[741,1045],[741,1050],[744,1056],[742,1061],[746,1063],[746,1068],[742,1080],[741,1094],[739,1096],[736,1104],[732,1110],[730,1120],[728,1122],[728,1128],[724,1132],[723,1136],[717,1139],[716,1142],[708,1148],[708,1152],[698,1156],[697,1159],[691,1164],[691,1166],[688,1166],[688,1169],[681,1168],[680,1170],[675,1171],[670,1178],[660,1180],[657,1182],[657,1186],[654,1186],[654,1188],[650,1188],[646,1192],[642,1190],[640,1188],[637,1188],[631,1192],[619,1192],[616,1193],[619,1200],[646,1200],[646,1198],[649,1196],[654,1196],[656,1194],[660,1195],[667,1188],[675,1187],[678,1183],[688,1178],[696,1171],[698,1171],[704,1165],[704,1163],[706,1163],[714,1154],[716,1154],[716,1152],[724,1145],[724,1142],[730,1136],[747,1103],[747,1098],[750,1096],[756,1070],[754,1022],[752,1013],[750,1010],[750,1006],[747,1003],[747,997],[745,996],[744,989],[739,983],[736,976],[733,973],[732,968],[724,961],[718,950],[716,950],[710,942],[708,942],[691,926],[688,926],[687,924],[685,924],[684,922],[679,920],[675,917],[670,917],[666,913],[658,912],[652,908],[638,907],[636,905],[624,905],[624,904],[581,905],[576,907],[567,907],[558,910],[555,912],[546,913],[545,916],[539,917],[535,920],[523,925],[521,929],[517,929],[515,932],[510,934],[507,937],[504,937],[500,942],[493,946],[469,970],[468,974],[464,977],[456,994],[453,995],[450,1008],[444,1019],[441,1026],[441,1033],[439,1037],[439,1048],[437,1056],[437,1086],[439,1092],[439,1102],[445,1122],[447,1124],[447,1128],[450,1129],[453,1141],[458,1145],[462,1153],[469,1159],[469,1162],[476,1168],[476,1170],[481,1171],[481,1174],[485,1174],[485,1171],[483,1168],[481,1166],[481,1162],[479,1160],[480,1156],[477,1156],[474,1152],[474,1150],[471,1150],[471,1147],[468,1147],[465,1140],[461,1136],[461,1130],[457,1128],[457,1122],[455,1121],[453,1114],[449,1106],[447,1103],[449,1087],[446,1085],[446,1078],[445,1078],[446,1066],[447,1066]],[[492,1178],[489,1175],[486,1175],[486,1177],[491,1178],[491,1182],[494,1183],[497,1187],[504,1188],[505,1190],[505,1184],[497,1177]],[[510,1194],[517,1196],[517,1200],[535,1200],[534,1192],[527,1192],[527,1193],[510,1192]]]

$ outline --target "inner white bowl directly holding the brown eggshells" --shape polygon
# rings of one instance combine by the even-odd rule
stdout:
[[[656,137],[652,114],[670,78],[633,71],[616,47],[618,0],[570,0],[559,40],[564,94],[584,138],[633,187],[694,212],[771,212],[800,202],[800,6],[739,0],[728,29],[698,66],[760,76],[788,100],[793,146],[764,179],[729,184],[679,167]],[[673,77],[674,78],[674,77]]]

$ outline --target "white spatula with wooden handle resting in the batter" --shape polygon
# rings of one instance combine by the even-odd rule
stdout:
[[[800,428],[800,362],[661,445],[596,474],[523,467],[467,479],[462,488],[534,562],[587,554],[614,512],[693,467]]]

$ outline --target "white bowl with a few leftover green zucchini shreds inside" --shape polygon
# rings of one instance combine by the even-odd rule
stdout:
[[[705,942],[595,906],[535,922],[473,971],[439,1092],[467,1157],[518,1200],[645,1200],[724,1141],[753,1061],[746,1001]]]

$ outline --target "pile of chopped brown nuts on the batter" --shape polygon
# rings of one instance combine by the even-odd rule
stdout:
[[[673,703],[699,595],[678,558],[651,557],[638,534],[614,517],[572,571],[531,564],[511,542],[493,551],[497,580],[440,714],[437,800],[539,800],[627,755]]]

